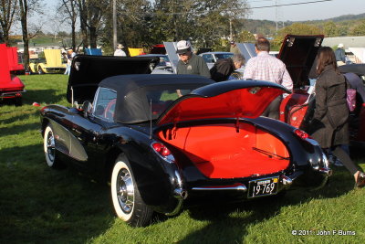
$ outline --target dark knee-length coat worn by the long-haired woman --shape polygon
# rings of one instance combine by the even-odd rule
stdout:
[[[349,143],[349,107],[346,101],[346,80],[331,66],[326,66],[316,82],[314,120],[322,128],[312,134],[322,148]]]

